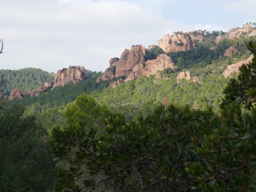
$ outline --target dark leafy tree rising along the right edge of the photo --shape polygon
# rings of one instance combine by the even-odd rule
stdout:
[[[248,43],[254,56],[255,47],[255,42]],[[193,175],[197,191],[256,190],[255,66],[253,59],[248,68],[241,67],[238,80],[230,80],[220,110],[221,126],[195,145],[200,158],[187,167],[187,172]]]

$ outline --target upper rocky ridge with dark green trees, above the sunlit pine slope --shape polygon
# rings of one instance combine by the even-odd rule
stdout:
[[[240,59],[244,54],[245,57],[249,57],[246,42],[254,39],[255,36],[256,29],[250,25],[232,28],[227,33],[198,30],[187,33],[178,31],[173,35],[165,34],[158,40],[158,45],[151,45],[148,49],[143,45],[133,45],[131,50],[125,49],[120,58],[110,58],[108,69],[97,81],[108,81],[116,77],[118,78],[116,84],[120,84],[119,79],[125,79],[124,82],[135,80],[141,76],[157,74],[157,71],[163,69],[174,69],[176,68],[174,65],[178,70],[183,70],[200,68],[225,60],[229,60],[228,63],[232,64],[233,58]],[[168,55],[170,59],[159,58],[153,62],[154,66],[151,66],[150,61],[162,54]]]

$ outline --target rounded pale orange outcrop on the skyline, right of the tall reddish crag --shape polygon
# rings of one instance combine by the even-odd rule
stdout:
[[[165,53],[187,51],[195,48],[196,42],[203,42],[203,37],[200,33],[197,33],[197,37],[194,37],[192,33],[178,33],[170,36],[165,34],[162,39],[159,39],[158,45]]]

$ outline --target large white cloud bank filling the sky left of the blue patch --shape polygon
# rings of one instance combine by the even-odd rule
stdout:
[[[56,72],[81,65],[104,71],[111,57],[119,57],[132,45],[157,44],[173,31],[222,29],[167,20],[151,9],[156,2],[144,9],[137,1],[5,1],[0,12],[0,38],[4,39],[0,69],[38,67]],[[157,9],[165,4],[166,0],[159,1]]]

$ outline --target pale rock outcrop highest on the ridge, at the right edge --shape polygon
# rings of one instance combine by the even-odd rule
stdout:
[[[239,39],[240,35],[244,37],[256,36],[256,29],[250,25],[246,25],[244,28],[231,28],[227,34],[216,37],[215,42],[219,43],[223,39]]]

